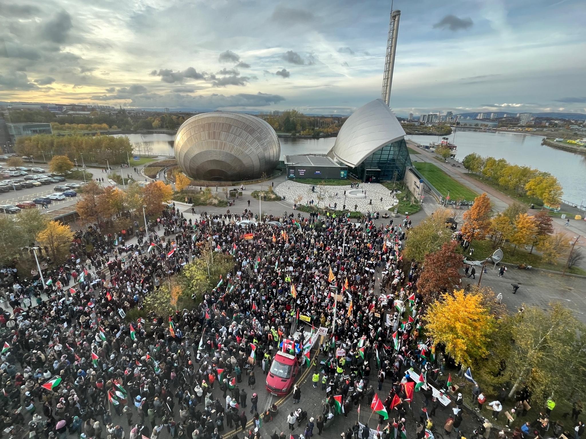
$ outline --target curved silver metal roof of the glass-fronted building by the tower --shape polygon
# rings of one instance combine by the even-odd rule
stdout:
[[[403,138],[405,131],[381,99],[363,105],[350,116],[338,133],[328,156],[347,166],[358,166],[366,157]]]

